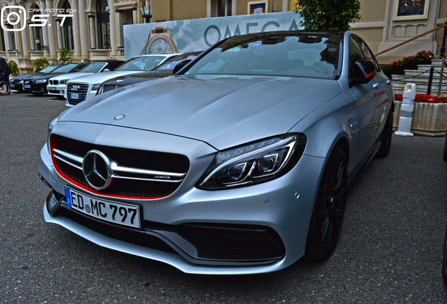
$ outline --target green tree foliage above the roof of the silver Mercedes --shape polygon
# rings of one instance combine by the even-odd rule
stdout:
[[[304,30],[346,31],[361,19],[359,0],[296,0],[295,11]]]

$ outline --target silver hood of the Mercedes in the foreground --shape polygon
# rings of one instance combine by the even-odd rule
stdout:
[[[98,95],[60,121],[92,122],[205,141],[222,150],[287,133],[342,91],[336,80],[176,75]],[[122,120],[114,120],[117,115]]]

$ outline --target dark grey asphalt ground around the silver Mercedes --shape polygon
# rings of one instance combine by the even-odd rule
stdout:
[[[349,186],[327,262],[251,276],[183,274],[44,222],[39,149],[62,101],[0,96],[0,303],[447,303],[443,138],[393,138]]]

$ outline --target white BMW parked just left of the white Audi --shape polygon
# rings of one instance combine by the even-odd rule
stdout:
[[[108,72],[115,70],[124,61],[98,61],[94,63],[89,63],[84,68],[79,70],[79,72],[68,73],[63,75],[58,75],[48,80],[46,85],[46,90],[48,95],[53,95],[59,99],[64,99],[65,89],[67,88],[67,82],[73,80],[74,78],[80,76],[86,76],[87,74],[93,74],[97,72]]]

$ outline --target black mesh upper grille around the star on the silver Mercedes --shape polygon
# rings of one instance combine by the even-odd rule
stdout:
[[[117,163],[121,167],[138,168],[139,170],[152,170],[157,172],[171,172],[173,174],[186,174],[189,169],[189,160],[186,156],[175,153],[164,153],[155,151],[143,151],[129,148],[117,148],[111,146],[100,146],[89,144],[84,141],[77,141],[53,135],[55,137],[57,150],[65,153],[70,153],[74,156],[84,158],[87,152],[95,149],[101,151],[110,160],[110,162]],[[53,152],[54,153],[54,152]],[[64,160],[56,158],[56,164],[60,171],[74,182],[78,182],[84,186],[89,187],[88,182],[84,178],[82,170],[70,165]],[[77,164],[82,167],[81,163]],[[178,181],[165,180],[147,180],[141,179],[136,175],[126,175],[127,178],[112,178],[110,185],[100,190],[101,194],[110,194],[112,196],[135,196],[143,198],[159,198],[169,196],[177,188],[179,188],[183,178]]]

